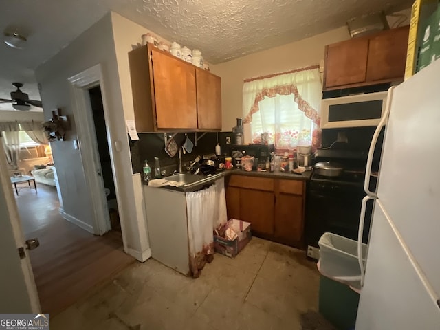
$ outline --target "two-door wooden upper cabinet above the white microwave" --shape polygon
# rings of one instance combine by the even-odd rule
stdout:
[[[325,47],[324,90],[403,80],[408,26]]]

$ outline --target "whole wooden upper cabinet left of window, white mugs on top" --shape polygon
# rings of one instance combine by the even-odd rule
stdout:
[[[129,52],[129,62],[137,131],[221,129],[219,77],[149,43]]]

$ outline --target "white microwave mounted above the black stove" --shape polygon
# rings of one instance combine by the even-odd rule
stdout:
[[[377,126],[385,112],[388,91],[325,98],[321,107],[321,128]]]

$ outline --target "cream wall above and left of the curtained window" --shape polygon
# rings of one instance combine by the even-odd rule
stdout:
[[[410,9],[395,14],[404,14],[407,18],[402,25],[408,25]],[[390,16],[387,19],[392,26],[398,17]],[[350,34],[347,27],[343,26],[294,43],[211,65],[212,73],[221,77],[222,130],[231,131],[236,125],[236,118],[242,117],[244,79],[319,64],[324,59],[325,45],[347,39],[350,39]]]

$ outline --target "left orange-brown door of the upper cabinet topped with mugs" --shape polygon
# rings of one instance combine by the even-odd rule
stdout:
[[[196,129],[195,67],[151,50],[157,129]]]

